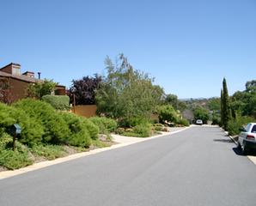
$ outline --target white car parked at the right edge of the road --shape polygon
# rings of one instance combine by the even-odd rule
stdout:
[[[249,123],[241,128],[238,136],[238,148],[241,148],[242,154],[247,154],[248,150],[256,151],[256,123]]]

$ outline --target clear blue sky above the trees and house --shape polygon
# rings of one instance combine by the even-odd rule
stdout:
[[[256,79],[256,0],[1,0],[0,67],[70,87],[124,53],[179,98]]]

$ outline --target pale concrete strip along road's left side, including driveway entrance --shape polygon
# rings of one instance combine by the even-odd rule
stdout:
[[[49,166],[52,166],[52,165],[56,165],[56,164],[59,164],[59,163],[65,162],[65,161],[75,160],[75,159],[83,157],[83,156],[88,156],[88,155],[91,155],[91,154],[101,153],[103,151],[107,151],[107,150],[110,150],[110,149],[125,147],[125,146],[131,145],[133,143],[148,141],[150,139],[155,139],[155,138],[160,137],[160,136],[172,135],[174,133],[180,132],[182,130],[186,130],[188,128],[189,127],[186,127],[186,128],[175,128],[174,127],[174,128],[170,128],[168,132],[162,132],[161,135],[145,137],[145,138],[112,135],[113,136],[113,142],[117,142],[117,144],[113,144],[111,147],[96,148],[96,149],[90,150],[88,152],[71,154],[69,156],[66,156],[66,157],[63,157],[63,158],[58,158],[58,159],[55,159],[53,161],[41,161],[39,163],[35,163],[34,165],[31,165],[31,166],[28,166],[28,167],[23,167],[23,168],[17,169],[17,170],[3,171],[3,172],[0,172],[0,179],[6,179],[6,178],[9,178],[9,177],[21,174],[21,173],[27,173],[27,172],[30,172],[30,171],[38,170],[38,169],[43,168],[43,167],[49,167]]]

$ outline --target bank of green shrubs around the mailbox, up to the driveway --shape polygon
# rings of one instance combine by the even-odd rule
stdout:
[[[13,124],[21,125],[15,151],[9,131]],[[0,103],[0,166],[16,169],[90,147],[110,146],[110,139],[102,141],[100,131],[108,134],[115,125],[113,119],[95,121],[57,111],[42,100],[24,99],[12,106]]]

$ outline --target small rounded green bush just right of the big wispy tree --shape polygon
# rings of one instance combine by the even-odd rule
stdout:
[[[168,121],[171,123],[176,123],[178,120],[178,114],[174,110],[173,106],[160,106],[158,109],[159,121],[164,123],[164,121]]]

